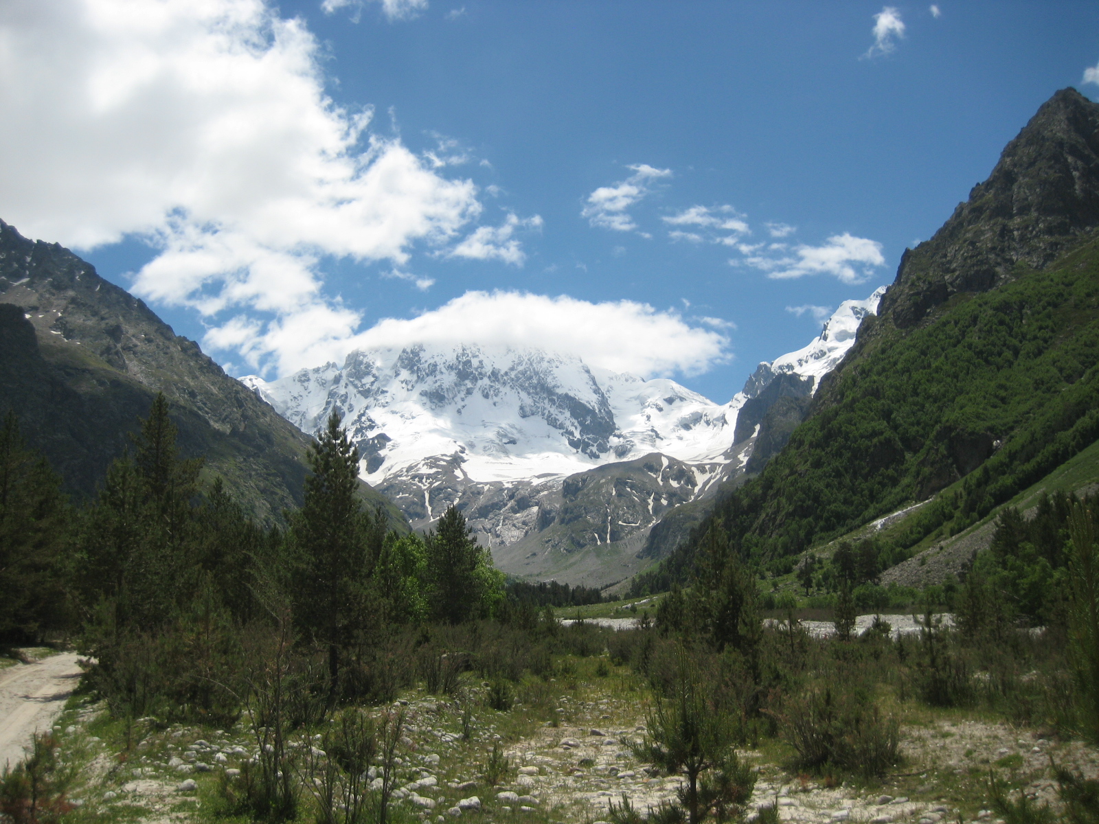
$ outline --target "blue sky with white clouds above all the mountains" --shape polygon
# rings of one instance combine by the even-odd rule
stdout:
[[[47,5],[59,14],[67,3],[80,5]],[[106,169],[99,192],[104,201],[116,199],[118,208],[74,205],[64,220],[55,218],[51,187],[55,202],[82,197],[58,175],[40,179],[46,191],[33,197],[19,193],[29,183],[0,180],[9,191],[0,194],[0,218],[32,236],[73,245],[234,374],[266,369],[274,377],[322,355],[336,357],[341,347],[378,344],[389,333],[401,343],[417,334],[393,323],[376,327],[387,318],[425,318],[460,337],[458,308],[471,336],[508,342],[511,333],[500,330],[515,319],[489,318],[520,305],[544,312],[543,327],[560,327],[559,335],[537,333],[547,346],[571,342],[586,356],[591,325],[606,325],[592,336],[593,361],[669,374],[725,401],[759,360],[817,334],[821,310],[789,309],[835,308],[891,282],[904,247],[934,233],[1055,90],[1076,86],[1099,96],[1099,85],[1083,82],[1086,69],[1099,65],[1094,2],[947,0],[937,3],[937,16],[929,3],[887,9],[867,2],[223,4],[222,18],[198,21],[177,4],[175,16],[157,23],[156,36],[167,40],[129,23],[113,36],[159,44],[149,54],[178,46],[190,60],[199,60],[203,44],[232,51],[243,43],[251,62],[226,58],[225,70],[269,70],[269,83],[242,85],[235,102],[219,98],[217,87],[191,89],[170,111],[156,102],[170,98],[167,92],[126,92],[132,99],[125,104],[103,104],[95,94],[106,92],[92,89],[89,99],[98,108],[88,104],[86,116],[98,120],[88,120],[80,133],[102,127],[102,140],[91,141],[98,148],[75,152],[58,140],[27,152],[38,153],[40,163],[49,162],[48,152],[64,155],[57,165],[69,177],[81,168]],[[225,14],[236,26],[229,35]],[[0,26],[22,24],[0,16]],[[70,29],[73,43],[98,53],[102,25]],[[169,29],[170,36],[164,34]],[[225,46],[226,36],[238,43]],[[274,42],[285,45],[277,60]],[[153,66],[149,60],[159,58],[142,59],[132,65]],[[58,69],[56,88],[64,71],[80,70],[79,60],[73,63]],[[166,70],[148,71],[159,77]],[[112,77],[119,75],[124,73],[115,67]],[[321,92],[304,88],[309,77]],[[280,88],[298,110],[278,113]],[[149,80],[146,91],[156,89]],[[51,99],[55,93],[47,85],[42,97],[60,104]],[[255,122],[224,126],[233,122],[226,111],[252,111],[249,93],[264,101],[254,107]],[[104,125],[104,105],[120,112],[113,125]],[[27,123],[34,114],[29,111]],[[288,127],[279,118],[312,123],[314,116],[319,125],[308,141],[323,152],[300,149],[307,138],[271,142],[270,134]],[[345,131],[351,124],[357,140],[344,135],[340,143],[323,116]],[[207,129],[211,123],[221,125]],[[77,141],[79,125],[62,127],[73,129]],[[232,140],[218,140],[235,141],[234,151],[249,163],[255,158],[253,183],[222,191],[222,167],[203,159],[217,153],[188,154],[192,126],[206,135],[197,141],[229,129]],[[118,141],[131,137],[112,142],[110,135],[134,130],[147,130],[148,142],[123,154]],[[25,138],[0,127],[0,145],[19,140]],[[174,141],[180,145],[165,152]],[[346,172],[352,177],[391,162],[393,190],[418,192],[395,201],[393,213],[407,214],[408,222],[369,244],[363,238],[386,223],[388,207],[345,225],[306,203],[300,220],[284,210],[265,224],[271,212],[264,198],[292,199],[274,189],[264,193],[263,181],[275,172],[264,170],[263,158],[274,158],[277,171],[313,157],[310,152],[326,162],[349,158],[358,169]],[[155,167],[152,178],[163,174],[170,183],[136,193],[116,183],[132,177],[126,164],[142,153],[142,172]],[[146,190],[153,188],[173,194]],[[385,186],[365,194],[346,191],[348,200],[392,194]],[[127,205],[133,203],[140,208]],[[253,216],[230,234],[224,226],[235,220],[234,204]],[[313,223],[281,246],[265,234],[268,225],[285,226],[279,233],[290,236],[295,226]],[[211,234],[213,224],[220,234]],[[218,259],[196,263],[211,258]],[[247,277],[224,274],[245,269]],[[279,303],[281,287],[263,286],[284,277],[307,283],[299,290],[307,297],[292,307]],[[537,299],[501,302],[493,290]],[[489,294],[478,302],[470,292]],[[464,302],[449,303],[463,296]],[[558,296],[573,300],[545,299]],[[439,311],[448,303],[451,311]],[[607,304],[606,321],[587,304]],[[580,316],[588,326],[573,323]],[[329,331],[319,344],[308,330],[321,326]],[[618,344],[608,330],[619,333]],[[540,339],[534,332],[517,334],[528,343]],[[260,338],[263,345],[255,343]]]

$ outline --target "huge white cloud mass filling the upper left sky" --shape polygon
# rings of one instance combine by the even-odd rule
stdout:
[[[0,164],[0,214],[78,249],[144,238],[158,255],[134,291],[198,309],[206,345],[320,363],[359,320],[325,296],[322,257],[402,266],[481,211],[471,181],[335,105],[320,59],[265,0],[2,3],[0,149],[19,162]]]

